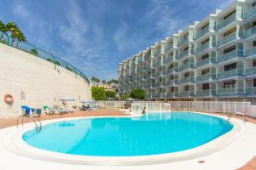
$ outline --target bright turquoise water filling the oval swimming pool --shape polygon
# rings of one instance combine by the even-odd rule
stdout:
[[[172,112],[55,122],[40,132],[27,131],[23,139],[40,149],[73,155],[145,156],[195,148],[232,127],[215,116]]]

